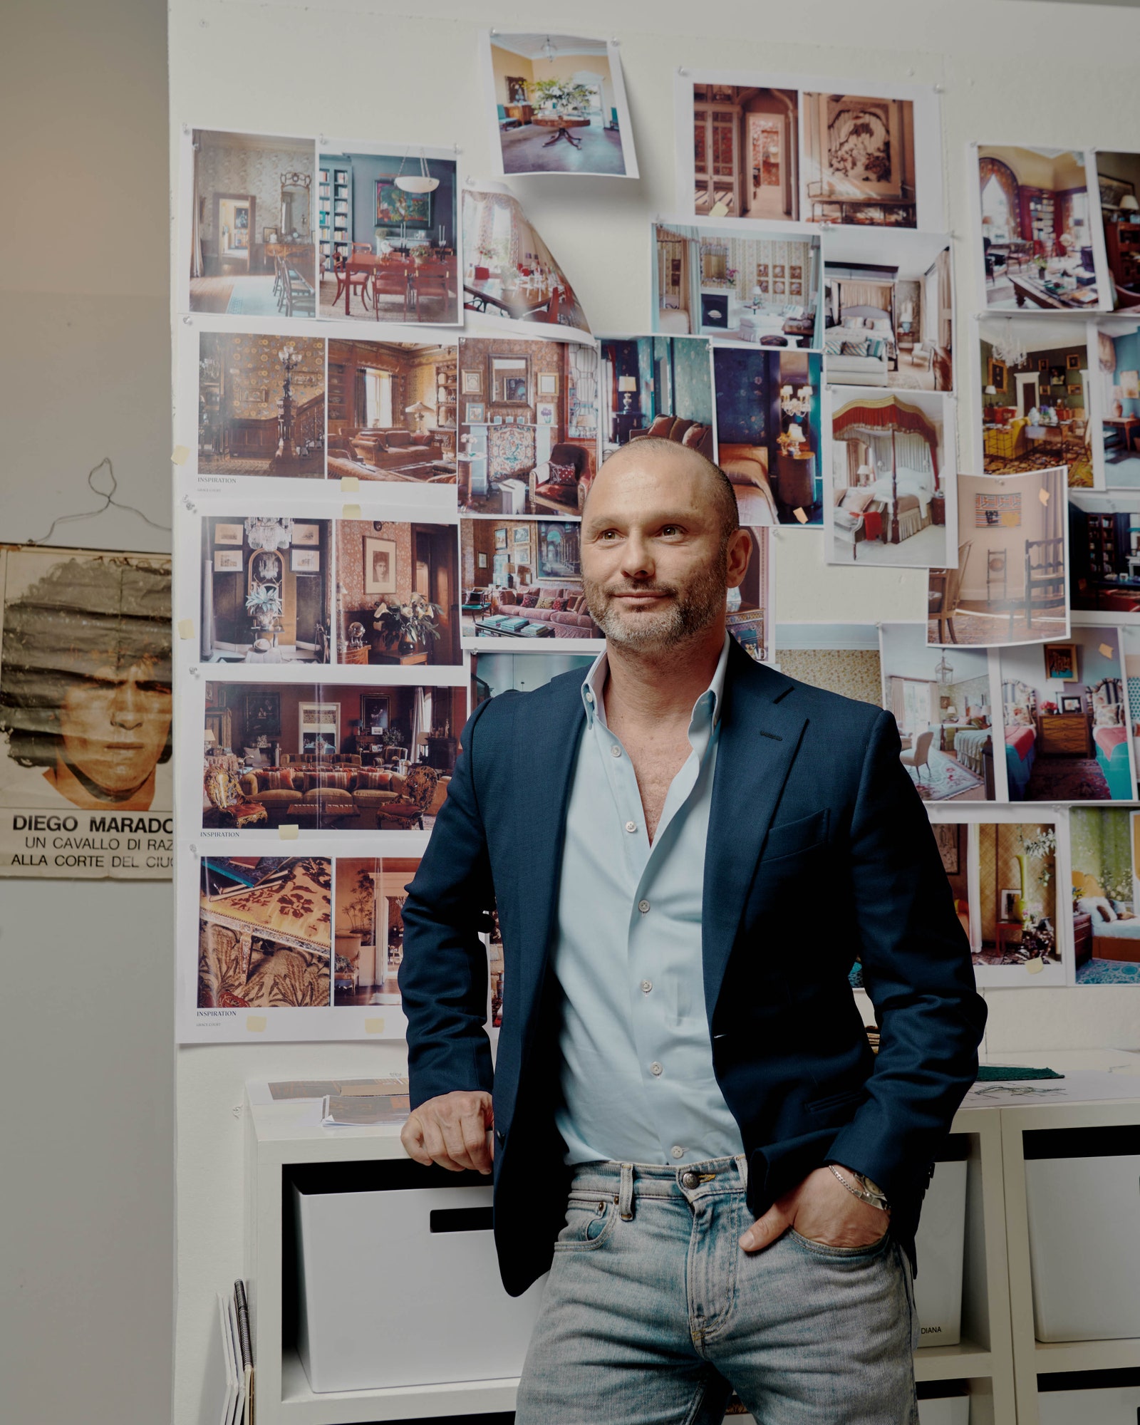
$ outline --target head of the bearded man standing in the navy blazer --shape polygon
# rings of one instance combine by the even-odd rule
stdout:
[[[590,489],[581,530],[587,607],[611,643],[664,651],[724,617],[725,590],[744,577],[748,547],[740,534],[722,549],[708,476],[690,457],[638,457],[634,443]]]

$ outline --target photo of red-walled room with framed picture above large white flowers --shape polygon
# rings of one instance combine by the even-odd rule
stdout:
[[[455,524],[336,522],[336,661],[459,667]]]

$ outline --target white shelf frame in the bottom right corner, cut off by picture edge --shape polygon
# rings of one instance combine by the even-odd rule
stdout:
[[[1026,1129],[1096,1129],[1136,1124],[1140,1123],[1140,1097],[1102,1103],[1037,1103],[1025,1109],[1002,1109],[1000,1113],[1017,1425],[1040,1425],[1039,1374],[1140,1367],[1140,1340],[1036,1340],[1033,1334],[1033,1278],[1029,1260],[1029,1210],[1025,1191],[1022,1134]]]

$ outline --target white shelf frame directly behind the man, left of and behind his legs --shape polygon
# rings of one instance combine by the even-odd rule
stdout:
[[[309,1389],[296,1352],[282,1344],[284,1174],[292,1164],[405,1157],[399,1127],[322,1129],[318,1109],[318,1102],[304,1099],[266,1106],[251,1104],[247,1099],[245,1106],[245,1278],[254,1331],[258,1425],[362,1425],[514,1409],[516,1379],[319,1395]],[[916,1351],[915,1375],[919,1381],[968,1379],[970,1425],[1013,1425],[999,1110],[962,1110],[952,1131],[970,1139],[962,1342]],[[400,1290],[393,1284],[396,1295]]]

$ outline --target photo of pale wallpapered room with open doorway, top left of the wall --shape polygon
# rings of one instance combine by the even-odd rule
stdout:
[[[315,316],[314,141],[209,128],[190,138],[190,311]]]

